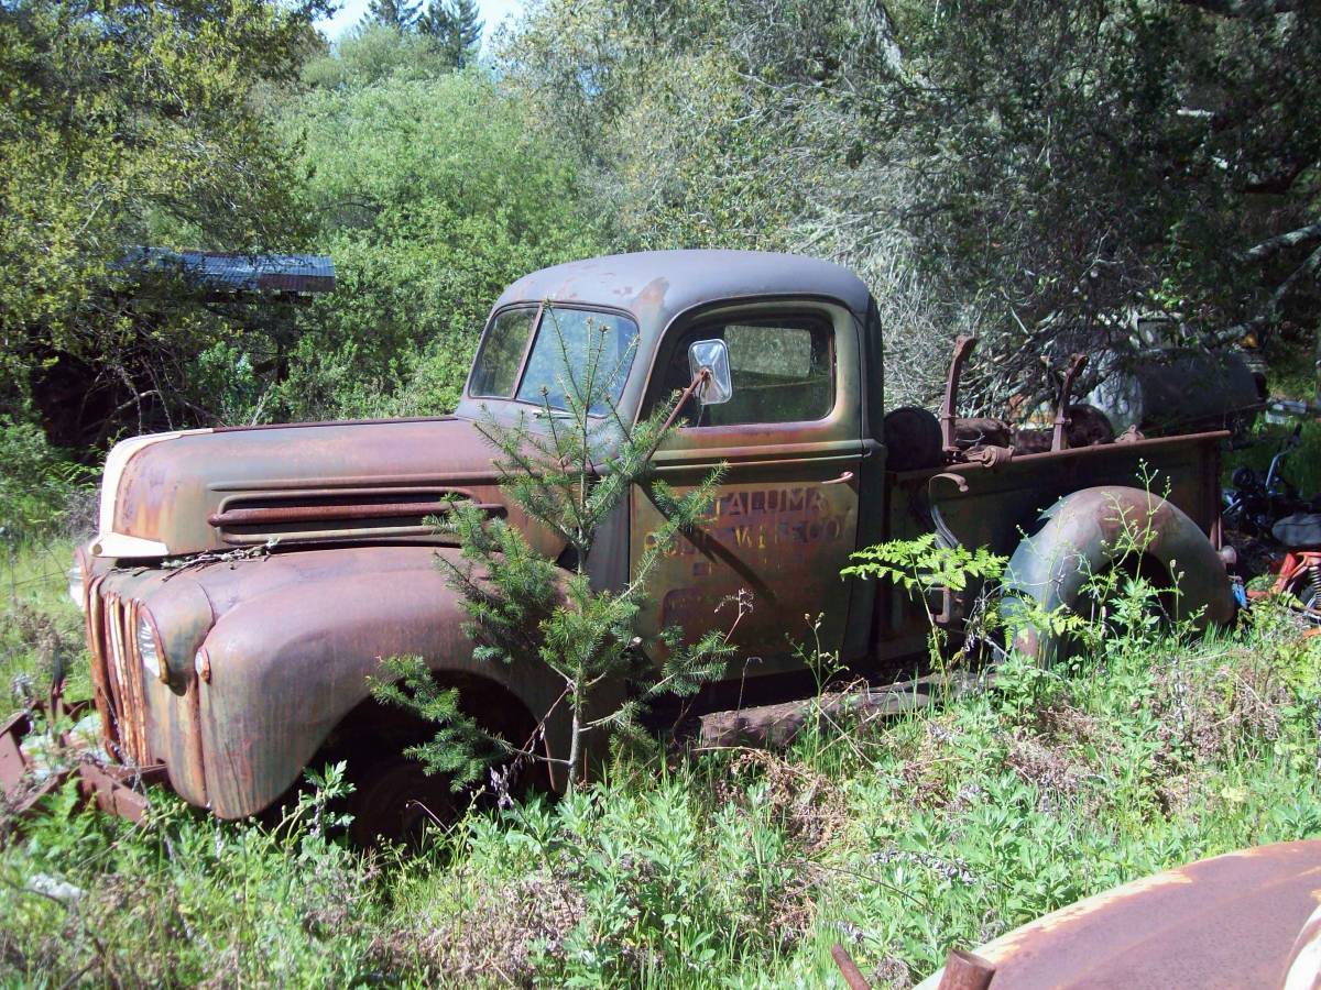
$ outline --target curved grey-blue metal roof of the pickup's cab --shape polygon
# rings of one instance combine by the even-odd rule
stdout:
[[[694,306],[721,300],[816,296],[859,315],[869,293],[853,272],[830,261],[762,251],[643,251],[543,268],[505,289],[513,302],[583,302],[631,313],[643,329],[666,326]]]

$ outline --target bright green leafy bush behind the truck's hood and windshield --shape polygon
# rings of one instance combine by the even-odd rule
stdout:
[[[572,161],[477,73],[317,90],[283,129],[338,289],[305,314],[281,414],[448,412],[501,290],[601,249]]]

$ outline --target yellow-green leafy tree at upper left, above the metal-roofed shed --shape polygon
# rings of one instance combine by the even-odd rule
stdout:
[[[229,323],[144,244],[295,248],[292,162],[260,112],[293,79],[321,0],[0,5],[0,395],[52,362],[176,412],[169,374]],[[144,315],[143,310],[147,310]]]

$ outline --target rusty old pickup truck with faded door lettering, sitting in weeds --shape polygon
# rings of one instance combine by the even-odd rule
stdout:
[[[728,401],[686,411],[654,454],[657,477],[679,490],[727,469],[701,539],[680,540],[655,573],[637,630],[643,651],[663,627],[705,631],[723,620],[723,601],[750,594],[731,668],[740,684],[798,669],[790,642],[818,615],[822,649],[882,677],[925,652],[927,611],[885,583],[841,579],[852,552],[937,531],[1013,554],[1024,594],[1070,605],[1081,572],[1106,566],[1125,507],[1153,520],[1144,566],[1182,576],[1180,606],[1205,620],[1232,615],[1218,554],[1225,434],[1089,434],[1073,447],[1061,403],[1038,453],[970,441],[955,408],[966,354],[941,417],[886,416],[877,308],[845,268],[724,251],[600,257],[505,290],[452,416],[196,429],[115,446],[99,533],[78,552],[71,589],[104,748],[129,767],[164,764],[174,791],[222,818],[272,805],[325,754],[351,754],[366,763],[362,807],[388,833],[421,784],[399,756],[417,726],[369,692],[382,657],[425,657],[494,731],[535,729],[555,684],[532,665],[473,659],[436,562],[457,549],[427,520],[470,499],[526,525],[542,553],[561,553],[502,494],[474,426],[540,405],[556,375],[551,314],[569,346],[590,323],[631,355],[616,389],[627,417],[690,384],[692,343],[721,342],[728,362]],[[1143,462],[1168,500],[1136,487]],[[594,545],[593,581],[624,582],[659,523],[639,487]],[[958,631],[960,595],[926,605]],[[1021,645],[1044,649],[1041,638]],[[540,734],[552,752],[564,746],[557,718]]]

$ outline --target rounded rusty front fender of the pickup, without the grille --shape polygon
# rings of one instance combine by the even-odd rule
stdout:
[[[461,598],[437,569],[437,553],[457,560],[457,550],[425,546],[288,554],[281,569],[306,558],[300,579],[225,610],[203,643],[209,677],[198,684],[215,814],[262,810],[295,783],[336,725],[369,697],[367,678],[383,657],[421,656],[436,671],[491,680],[534,718],[552,709],[559,692],[544,671],[473,660]],[[548,748],[563,755],[565,743],[565,721],[552,719]]]

